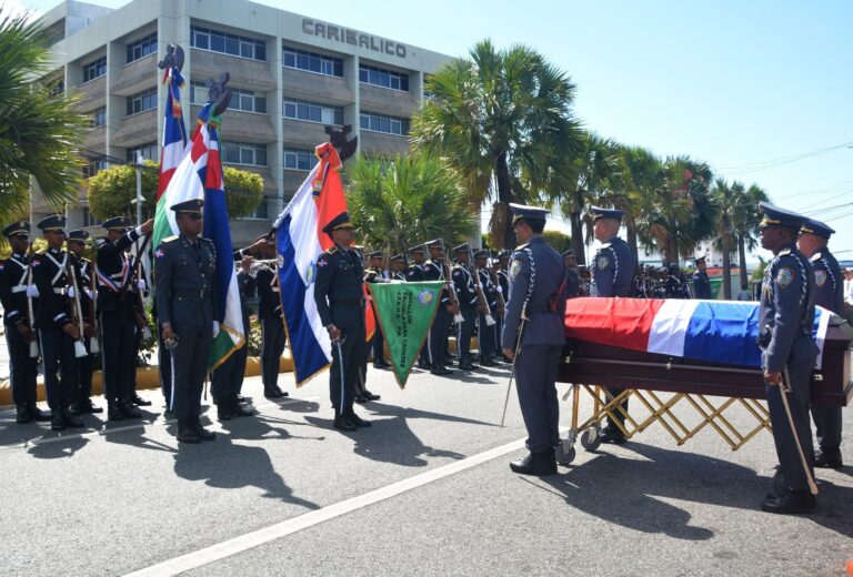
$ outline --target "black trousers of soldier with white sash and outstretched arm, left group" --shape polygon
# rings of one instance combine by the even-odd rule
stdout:
[[[101,361],[107,403],[130,399],[137,370],[136,323],[124,314],[101,313]]]

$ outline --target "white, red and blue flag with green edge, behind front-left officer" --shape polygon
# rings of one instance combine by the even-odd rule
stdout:
[[[153,231],[153,245],[159,246],[163,239],[179,232],[174,211],[170,207],[193,199],[204,201],[203,235],[212,240],[217,249],[215,282],[219,290],[217,321],[220,332],[213,340],[208,360],[211,370],[221,365],[245,342],[217,134],[221,118],[210,117],[212,108],[213,103],[208,102],[199,112],[199,124],[190,139],[189,152],[178,164],[169,186],[157,202]]]

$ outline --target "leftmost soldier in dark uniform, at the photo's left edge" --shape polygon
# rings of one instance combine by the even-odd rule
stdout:
[[[6,345],[9,348],[9,377],[16,422],[24,425],[31,421],[50,421],[50,414],[36,405],[36,377],[38,376],[38,345],[34,318],[30,317],[30,302],[37,305],[38,288],[30,282],[30,223],[20,221],[3,229],[12,254],[0,263],[0,302],[3,305]],[[31,348],[33,348],[32,353]]]

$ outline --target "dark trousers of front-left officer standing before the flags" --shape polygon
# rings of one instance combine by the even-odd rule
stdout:
[[[178,419],[201,415],[201,392],[208,374],[213,326],[172,325],[178,345],[171,348],[172,397],[169,408]]]

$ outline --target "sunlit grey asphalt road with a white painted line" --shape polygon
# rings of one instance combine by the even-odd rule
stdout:
[[[678,447],[653,425],[621,447],[579,447],[556,476],[521,477],[508,467],[524,453],[508,445],[524,437],[514,393],[498,426],[508,376],[415,373],[400,391],[371,368],[382,401],[358,409],[373,427],[352,434],[331,428],[325,375],[299,391],[281,375],[282,403],[250,378],[260,415],[180,449],[157,392],[144,424],[89,416],[83,434],[0,411],[0,574],[844,575],[853,467],[819,472],[807,517],[759,509],[767,433],[733,453],[710,427]],[[850,411],[845,426],[853,464]]]

